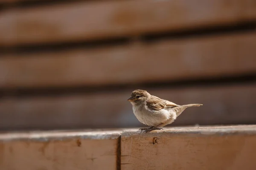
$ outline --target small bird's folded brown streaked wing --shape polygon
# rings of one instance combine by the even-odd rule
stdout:
[[[175,106],[179,106],[179,105],[176,105],[175,103],[170,102],[168,100],[160,99],[157,96],[151,96],[147,100],[146,105],[149,109],[155,110],[155,111],[160,111],[161,109],[164,109],[166,107],[172,108],[172,107],[175,107]]]

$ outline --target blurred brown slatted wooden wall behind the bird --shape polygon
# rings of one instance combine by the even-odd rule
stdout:
[[[256,1],[0,0],[0,130],[143,126],[138,88],[256,123]]]

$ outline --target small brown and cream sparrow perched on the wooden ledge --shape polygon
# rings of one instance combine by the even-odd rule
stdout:
[[[145,133],[151,130],[160,130],[166,125],[175,121],[186,108],[201,106],[201,104],[177,105],[168,100],[160,99],[149,94],[145,90],[134,90],[131,97],[127,99],[131,102],[134,115],[148,128],[140,128]]]

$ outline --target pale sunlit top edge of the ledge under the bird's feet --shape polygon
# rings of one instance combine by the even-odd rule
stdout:
[[[131,135],[155,135],[159,133],[201,133],[204,135],[212,134],[234,134],[234,133],[250,133],[256,134],[256,125],[230,125],[230,126],[180,126],[180,127],[164,127],[164,130],[153,130],[150,133],[142,133],[139,127],[124,128],[116,130],[52,130],[52,131],[27,131],[27,132],[10,132],[0,133],[0,141],[13,140],[34,140],[34,141],[49,141],[49,140],[64,140],[79,137],[81,139],[117,139]]]

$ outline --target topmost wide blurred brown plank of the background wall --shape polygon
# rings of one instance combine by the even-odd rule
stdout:
[[[0,46],[137,36],[253,20],[254,0],[84,1],[1,11]]]

